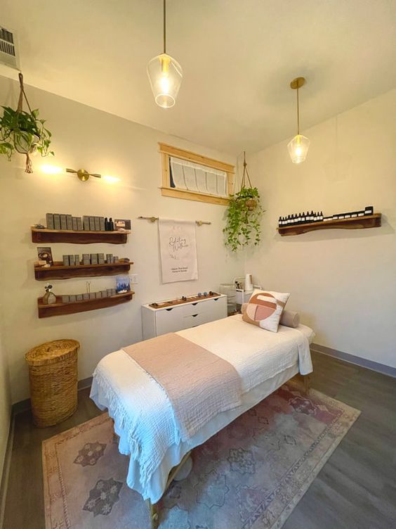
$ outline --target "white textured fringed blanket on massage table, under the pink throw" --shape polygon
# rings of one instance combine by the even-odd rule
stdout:
[[[242,393],[246,393],[297,362],[301,374],[312,371],[307,329],[310,331],[305,326],[279,326],[277,333],[271,333],[247,324],[237,315],[178,334],[230,362],[241,377]],[[126,445],[120,446],[120,451],[139,461],[140,482],[145,490],[166,450],[181,442],[180,428],[164,389],[120,350],[99,362],[91,397],[102,409],[108,408],[116,433],[127,434]]]

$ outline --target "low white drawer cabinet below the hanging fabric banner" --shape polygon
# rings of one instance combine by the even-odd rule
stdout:
[[[219,294],[216,298],[180,303],[174,307],[156,309],[150,305],[142,305],[143,340],[225,317],[227,296],[224,294]]]

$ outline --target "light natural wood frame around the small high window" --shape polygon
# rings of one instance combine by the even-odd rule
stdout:
[[[200,154],[185,151],[184,149],[173,147],[159,142],[159,153],[161,153],[162,163],[162,196],[171,196],[173,198],[184,198],[185,200],[197,200],[197,202],[206,202],[210,204],[228,205],[230,198],[209,195],[207,193],[199,193],[198,191],[187,191],[185,189],[176,189],[171,187],[171,173],[169,171],[169,158],[180,158],[180,160],[187,160],[188,162],[195,162],[211,169],[217,169],[227,173],[227,193],[232,195],[234,192],[234,174],[235,166],[229,163],[213,160],[213,158],[206,158]]]

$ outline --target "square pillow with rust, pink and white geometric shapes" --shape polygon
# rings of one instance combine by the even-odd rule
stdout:
[[[266,331],[276,333],[279,319],[290,294],[272,291],[253,291],[242,319]]]

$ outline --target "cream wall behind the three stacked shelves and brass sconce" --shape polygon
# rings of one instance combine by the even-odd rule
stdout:
[[[23,172],[22,156],[13,162],[0,160],[3,261],[0,292],[5,307],[4,343],[9,356],[13,402],[29,396],[25,352],[34,345],[56,338],[79,340],[79,378],[86,378],[107,352],[142,338],[141,303],[214,290],[220,282],[230,281],[243,272],[242,260],[227,255],[223,247],[223,206],[162,197],[158,189],[161,185],[158,141],[234,163],[230,155],[38,89],[27,87],[27,95],[32,108],[40,108],[42,117],[48,120],[53,132],[55,158],[34,158],[33,174]],[[0,77],[1,103],[16,106],[17,96],[16,84]],[[114,87],[114,97],[117,97],[117,87]],[[158,112],[164,110],[158,108]],[[96,179],[81,183],[71,174],[49,176],[39,170],[43,162],[112,174],[120,177],[122,184],[111,185]],[[125,246],[49,245],[55,260],[61,260],[63,253],[81,255],[100,251],[130,257],[135,262],[132,272],[139,274],[132,302],[70,316],[38,319],[37,297],[44,293],[45,283],[34,280],[37,245],[31,241],[30,226],[35,222],[44,223],[46,212],[133,220],[133,233]],[[211,226],[197,228],[199,281],[161,285],[157,224],[137,220],[138,215],[212,222]],[[86,279],[53,281],[53,286],[58,294],[81,293],[86,290]],[[112,277],[91,280],[91,291],[110,286],[114,286]]]

